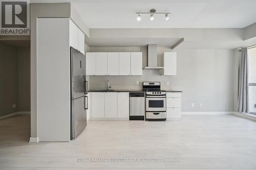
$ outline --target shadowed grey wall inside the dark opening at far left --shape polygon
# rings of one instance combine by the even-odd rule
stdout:
[[[0,116],[30,111],[30,47],[0,41],[0,79]]]

